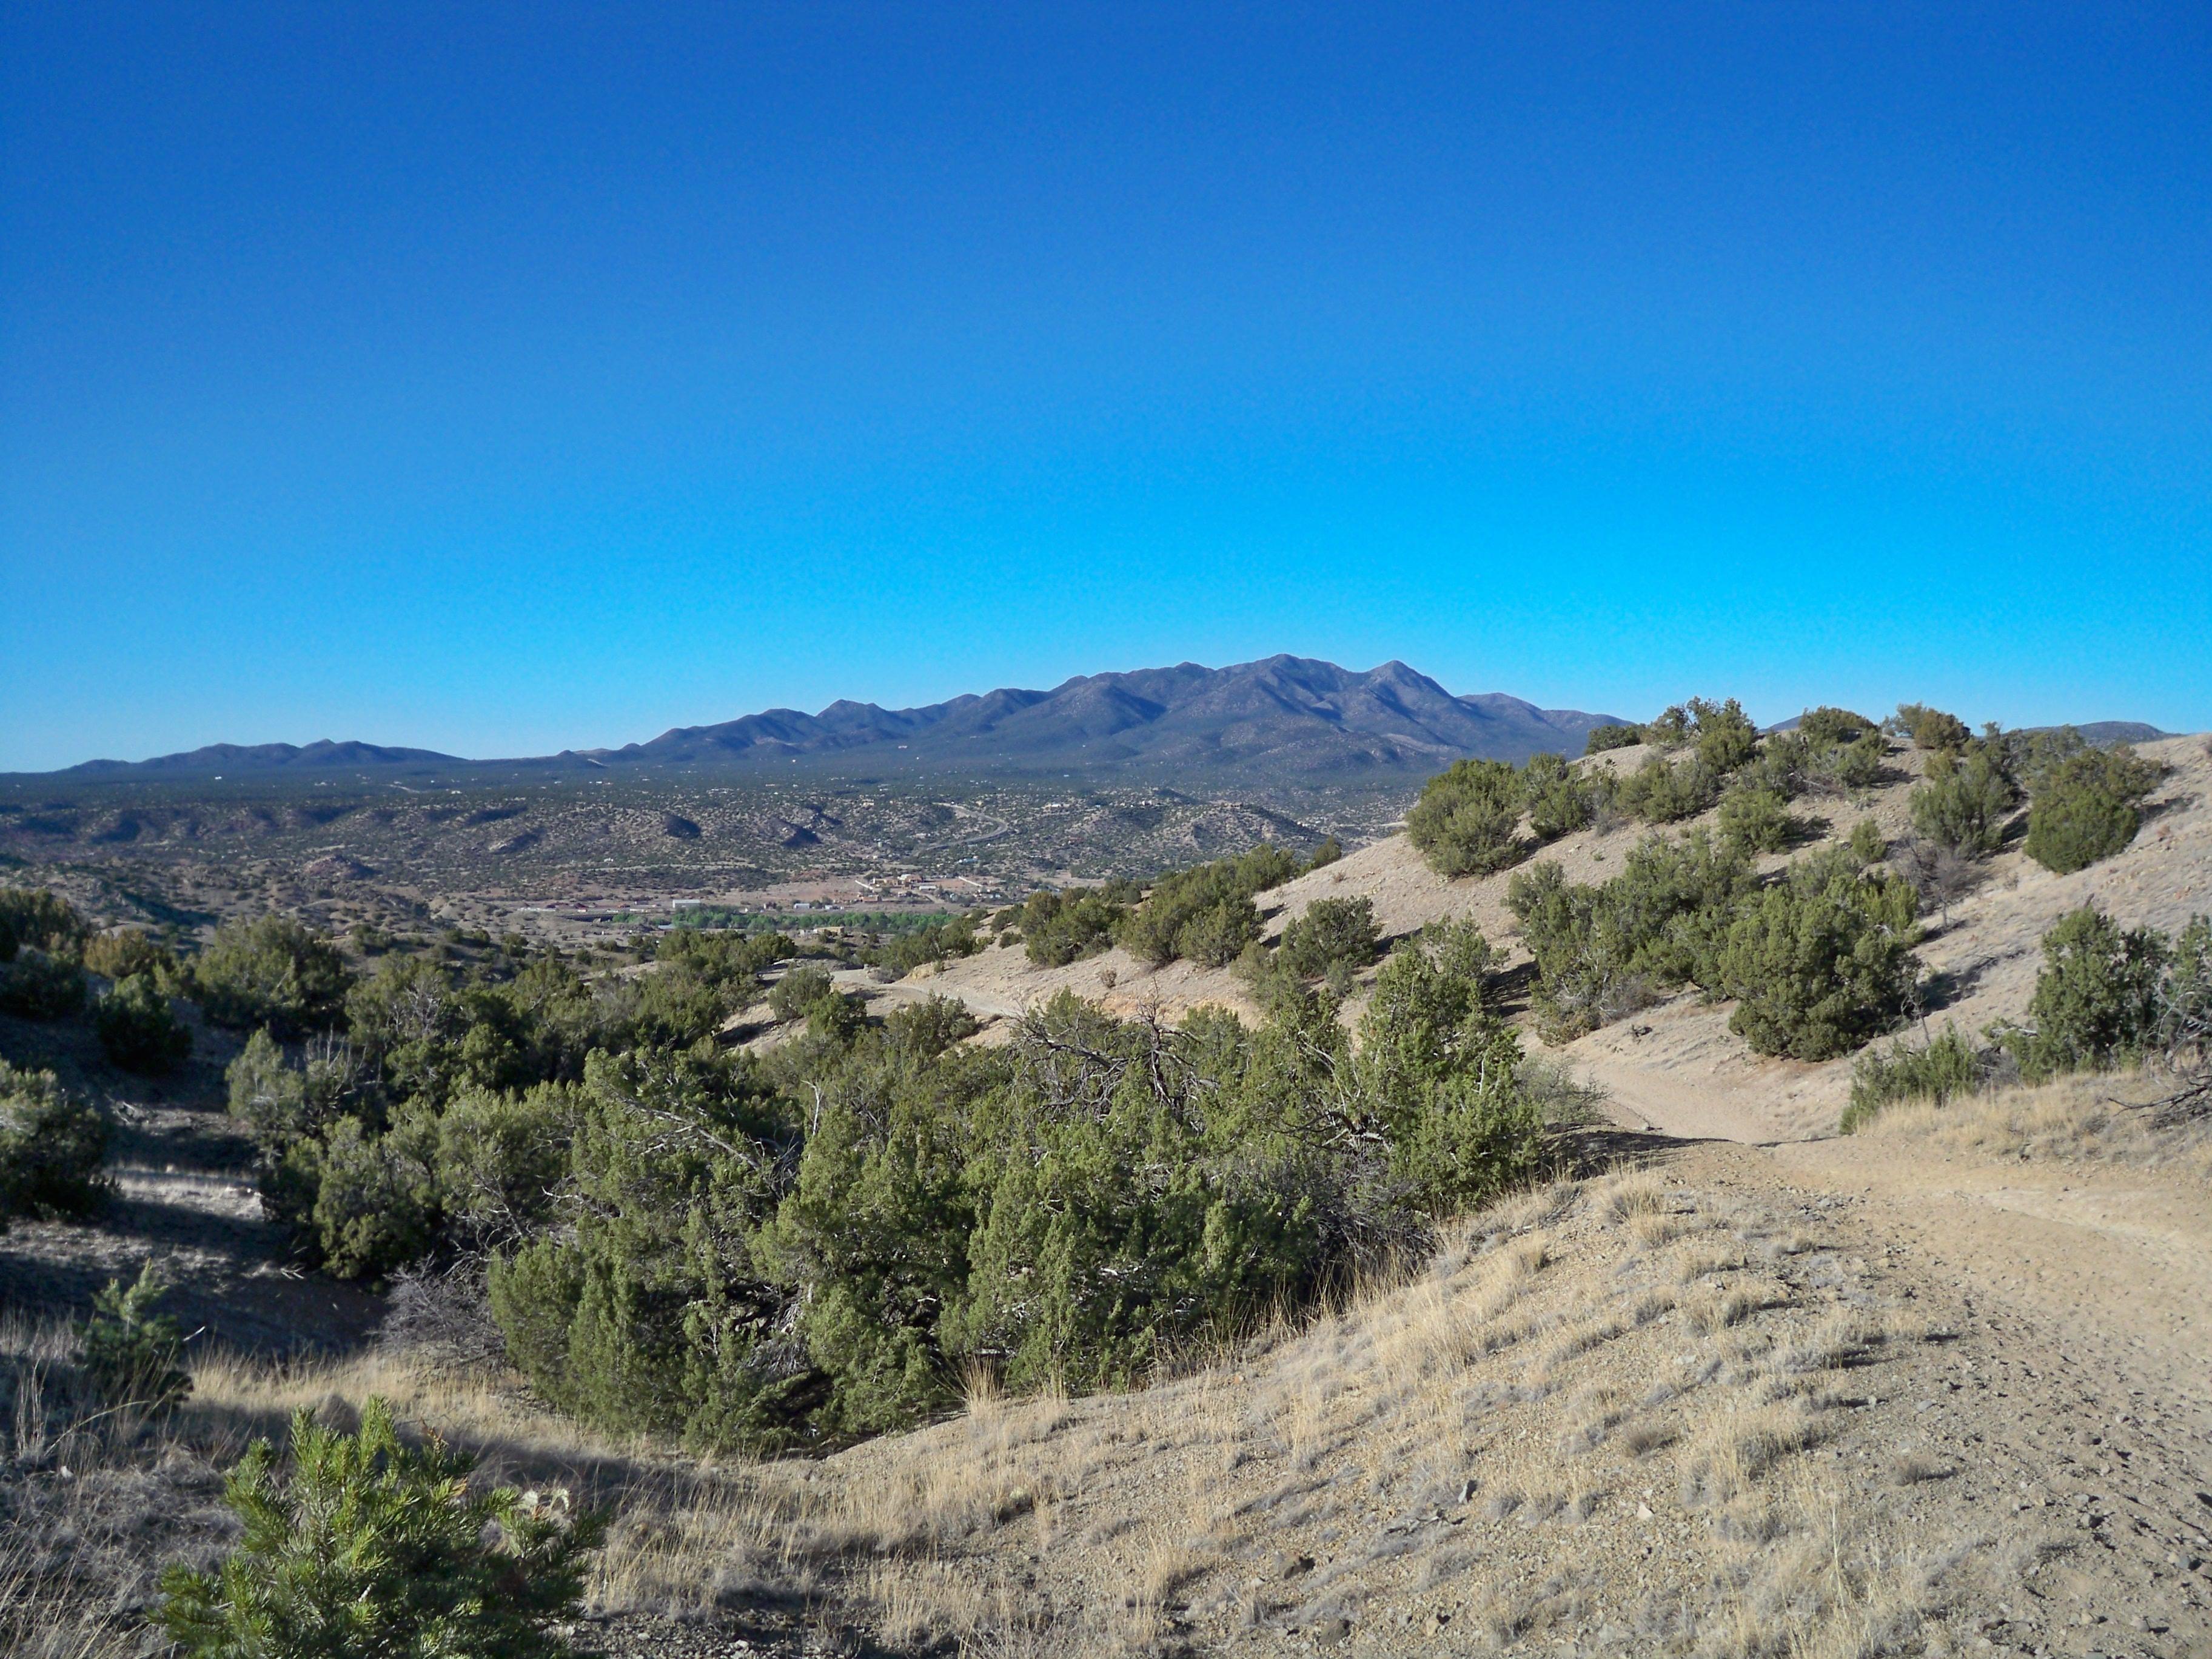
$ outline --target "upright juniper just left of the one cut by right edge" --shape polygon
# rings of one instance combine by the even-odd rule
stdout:
[[[2159,1033],[2166,960],[2154,929],[2124,929],[2093,905],[2064,916],[2044,933],[2026,1024],[1997,1031],[2020,1075],[2042,1082],[2143,1055]]]

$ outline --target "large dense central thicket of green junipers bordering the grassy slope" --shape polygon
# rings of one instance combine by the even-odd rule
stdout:
[[[759,1062],[595,1055],[493,1316],[546,1398],[701,1447],[911,1422],[973,1365],[1137,1380],[1533,1166],[1486,964],[1473,929],[1402,947],[1371,1057],[1294,982],[1259,1029],[1062,995],[998,1048],[925,1004]]]

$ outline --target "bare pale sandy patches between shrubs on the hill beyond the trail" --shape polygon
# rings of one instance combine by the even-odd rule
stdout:
[[[2053,876],[2011,845],[1989,860],[1975,889],[1951,905],[1949,920],[1927,918],[1920,956],[1933,973],[1931,1022],[1955,1020],[1966,1031],[1980,1031],[1991,1020],[2017,1018],[2035,984],[2037,942],[2059,916],[2088,898],[2121,922],[2166,931],[2179,929],[2194,911],[2212,911],[2212,754],[2199,737],[2146,743],[2139,752],[2172,770],[2148,803],[2132,847],[2073,876]],[[1632,772],[1644,754],[1641,748],[1624,748],[1588,765]],[[1924,757],[1896,743],[1885,783],[1863,803],[1834,796],[1798,801],[1805,836],[1785,854],[1767,854],[1761,867],[1774,869],[1807,847],[1849,834],[1867,816],[1885,836],[1907,834],[1907,799],[1922,770]],[[1710,814],[1677,827],[1694,823],[1710,823]],[[1650,827],[1639,823],[1582,830],[1548,845],[1542,858],[1555,858],[1571,880],[1597,883],[1617,872],[1621,856],[1646,834]],[[1422,863],[1402,834],[1394,834],[1261,894],[1261,909],[1270,936],[1281,936],[1312,900],[1329,896],[1371,898],[1389,938],[1440,918],[1469,918],[1506,949],[1511,969],[1528,958],[1504,907],[1509,880],[1511,872],[1447,880]],[[1371,978],[1374,971],[1365,975],[1367,982]],[[1155,971],[1119,947],[1064,969],[1033,967],[1018,947],[989,949],[949,962],[927,980],[891,987],[894,995],[956,995],[978,1015],[1000,1020],[1060,989],[1124,1013],[1159,1006],[1175,1015],[1203,1002],[1252,1013],[1234,971],[1190,962]],[[1347,1018],[1358,1004],[1354,995]],[[1615,1115],[1635,1128],[1741,1141],[1829,1133],[1849,1097],[1851,1062],[1807,1066],[1761,1060],[1728,1031],[1728,1013],[1725,1004],[1708,1006],[1697,993],[1679,993],[1568,1044],[1557,1057],[1599,1082]]]

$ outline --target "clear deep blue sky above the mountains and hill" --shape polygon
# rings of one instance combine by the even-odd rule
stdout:
[[[0,13],[0,768],[1276,650],[2212,726],[2212,9]]]

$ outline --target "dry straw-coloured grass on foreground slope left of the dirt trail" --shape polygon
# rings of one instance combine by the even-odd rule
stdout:
[[[1009,1398],[973,1371],[958,1416],[823,1462],[608,1442],[500,1378],[376,1356],[288,1369],[204,1356],[195,1402],[164,1433],[212,1471],[296,1407],[383,1394],[493,1478],[619,1502],[588,1588],[608,1613],[697,1619],[772,1590],[825,1619],[843,1610],[885,1646],[1004,1659],[1276,1650],[1290,1626],[1296,1646],[1336,1621],[1365,1632],[1358,1646],[1385,1615],[1409,1635],[1451,1615],[1451,1644],[1528,1641],[1584,1628],[1597,1606],[1617,1617],[1619,1562],[1697,1509],[1705,1520],[1679,1537],[1710,1528],[1721,1555],[1637,1590],[1650,1628],[1674,1632],[1648,1650],[1871,1652],[1869,1630],[1920,1617],[1920,1579],[1885,1588],[1896,1562],[1867,1559],[1854,1531],[1865,1493],[1814,1491],[1809,1469],[1827,1464],[1798,1453],[1847,1433],[1832,1380],[1896,1363],[1909,1332],[1863,1290],[1843,1305],[1843,1290],[1792,1285],[1805,1274],[1785,1254],[1763,1254],[1772,1276],[1747,1274],[1741,1237],[1712,1225],[1723,1214],[1741,1237],[1781,1225],[1648,1172],[1551,1186],[1451,1230],[1418,1272],[1148,1391]],[[1686,1217],[1692,1239],[1655,1228]],[[38,1343],[49,1371],[66,1369],[64,1338],[15,1338],[24,1358]],[[46,1405],[22,1413],[53,1438]],[[1865,1467],[1907,1482],[1887,1451]],[[1889,1498],[1931,1480],[1913,1473]],[[1303,1571],[1270,1564],[1285,1551]],[[1741,1641],[1717,1619],[1741,1621]],[[69,1648],[60,1617],[51,1630],[64,1646],[42,1659],[119,1659]]]

